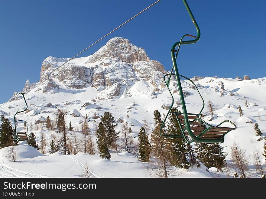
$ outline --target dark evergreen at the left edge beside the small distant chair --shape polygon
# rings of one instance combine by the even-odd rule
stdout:
[[[15,129],[11,126],[11,122],[5,119],[0,126],[0,148],[18,145],[15,139]]]

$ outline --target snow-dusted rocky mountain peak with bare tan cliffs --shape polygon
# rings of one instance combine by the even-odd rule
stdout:
[[[73,59],[52,72],[67,60],[69,59],[56,57],[47,57],[44,60],[40,82],[44,93],[57,92],[60,85],[56,82],[66,89],[94,87],[99,91],[96,96],[98,99],[132,96],[132,91],[130,94],[127,92],[140,80],[147,81],[147,85],[151,87],[154,86],[148,89],[153,92],[164,88],[163,65],[156,60],[150,60],[143,48],[122,37],[112,38],[94,54]],[[29,86],[27,82],[25,89]],[[148,96],[154,96],[154,93]]]

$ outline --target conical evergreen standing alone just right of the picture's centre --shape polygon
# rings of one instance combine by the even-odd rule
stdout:
[[[143,126],[139,129],[138,134],[138,159],[141,162],[150,162],[151,158],[151,144],[149,135]]]

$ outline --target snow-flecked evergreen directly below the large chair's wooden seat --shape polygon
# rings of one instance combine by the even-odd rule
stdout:
[[[227,153],[223,152],[220,143],[196,143],[196,153],[203,164],[208,167],[216,167],[220,170],[225,166]]]

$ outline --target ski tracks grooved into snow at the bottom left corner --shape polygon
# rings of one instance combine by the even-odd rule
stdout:
[[[0,171],[4,171],[12,175],[12,176],[8,175],[9,177],[27,178],[27,176],[17,175],[15,172],[13,172],[13,171],[17,171],[24,175],[28,175],[28,178],[50,178],[50,176],[47,176],[47,175],[36,174],[30,171],[23,171],[21,169],[17,169],[17,168],[4,165],[4,164],[0,164],[0,166],[1,166]],[[0,176],[6,176],[6,174],[0,173]]]

